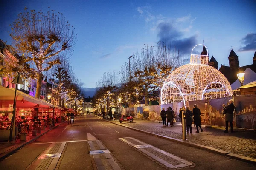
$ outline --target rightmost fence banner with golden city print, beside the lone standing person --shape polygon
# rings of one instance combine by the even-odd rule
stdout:
[[[256,94],[234,96],[236,127],[256,130]]]

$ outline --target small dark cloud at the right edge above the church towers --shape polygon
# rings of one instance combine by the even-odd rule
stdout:
[[[256,49],[256,33],[248,33],[241,41],[245,46],[238,51],[253,51]]]

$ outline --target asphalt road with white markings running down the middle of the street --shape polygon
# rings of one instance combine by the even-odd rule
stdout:
[[[136,120],[135,122],[136,123]],[[164,170],[165,167],[155,163],[137,149],[129,146],[119,138],[133,137],[168,153],[195,163],[191,170],[254,170],[256,165],[230,159],[209,151],[201,150],[161,139],[145,133],[121,127],[103,121],[93,115],[76,117],[75,123],[59,125],[35,142],[26,145],[12,156],[0,162],[1,170],[26,170],[38,157],[57,142],[66,142],[58,166],[59,170],[93,170],[89,155],[87,133],[100,140],[122,164],[125,170]]]

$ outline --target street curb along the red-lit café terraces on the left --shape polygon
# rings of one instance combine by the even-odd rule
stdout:
[[[67,122],[67,121],[65,121],[65,122]],[[65,123],[65,122],[62,122],[62,123],[60,123],[59,125],[62,125],[62,124]],[[50,129],[48,129],[48,130],[45,131],[44,133],[41,133],[40,135],[36,136],[35,138],[33,138],[33,139],[31,139],[31,140],[29,140],[29,141],[27,141],[27,142],[25,142],[25,143],[18,144],[16,147],[13,147],[12,149],[7,150],[6,152],[2,153],[2,154],[0,155],[0,161],[2,161],[3,159],[5,159],[6,157],[12,155],[13,153],[15,153],[17,150],[19,150],[20,148],[24,147],[25,145],[27,145],[27,144],[29,144],[29,143],[35,141],[36,139],[40,138],[40,137],[43,136],[45,133],[49,132],[50,130],[52,130],[52,129],[56,128],[56,127],[58,127],[59,125],[56,125],[56,126],[50,128]]]

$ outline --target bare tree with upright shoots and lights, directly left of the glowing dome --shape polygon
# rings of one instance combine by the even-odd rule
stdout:
[[[163,85],[164,79],[171,72],[185,63],[185,57],[176,49],[172,50],[165,43],[158,42],[154,46],[141,48],[141,55],[134,54],[132,62],[133,77],[142,81],[145,88],[145,105],[148,105],[148,95]]]

